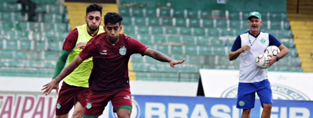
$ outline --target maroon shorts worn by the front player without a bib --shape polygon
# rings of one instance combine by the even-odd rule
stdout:
[[[120,106],[128,105],[132,107],[130,89],[126,88],[122,91],[110,94],[94,93],[90,91],[88,101],[84,109],[84,114],[100,116],[109,101],[112,103],[113,112],[115,112],[115,109]]]

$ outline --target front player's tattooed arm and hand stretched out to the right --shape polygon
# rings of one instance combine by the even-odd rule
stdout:
[[[162,61],[162,62],[168,62],[170,63],[170,66],[172,66],[173,68],[175,68],[175,65],[176,64],[181,64],[183,63],[186,59],[183,59],[182,61],[177,61],[177,60],[174,60],[168,56],[166,56],[165,54],[159,52],[159,51],[156,51],[156,50],[153,50],[151,48],[147,48],[146,51],[145,51],[145,55],[149,56],[149,57],[152,57],[158,61]]]

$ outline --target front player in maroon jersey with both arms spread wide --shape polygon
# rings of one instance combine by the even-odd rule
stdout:
[[[98,118],[109,101],[112,102],[113,112],[119,118],[129,118],[132,101],[128,77],[128,61],[132,54],[147,55],[158,61],[168,62],[175,68],[181,61],[174,60],[165,54],[146,47],[141,42],[124,34],[122,16],[115,12],[105,15],[105,33],[93,37],[79,56],[67,66],[59,76],[44,85],[44,93],[59,86],[59,82],[69,75],[82,61],[93,57],[93,69],[89,77],[90,95],[85,106],[83,118]]]

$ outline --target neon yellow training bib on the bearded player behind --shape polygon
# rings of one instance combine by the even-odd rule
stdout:
[[[69,53],[69,64],[79,55],[79,53],[83,50],[80,48],[76,48],[79,42],[87,43],[92,37],[87,32],[87,25],[82,25],[76,27],[78,30],[78,38],[75,44],[74,49]],[[97,34],[104,32],[103,26],[99,27],[99,31]],[[91,69],[93,67],[92,57],[83,61],[71,74],[64,78],[64,82],[72,85],[72,86],[79,86],[79,87],[89,87],[88,79],[91,73]]]

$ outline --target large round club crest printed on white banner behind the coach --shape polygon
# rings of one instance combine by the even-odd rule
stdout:
[[[274,100],[302,100],[310,101],[310,98],[301,91],[298,91],[290,86],[284,86],[279,84],[271,84],[272,97]],[[238,85],[229,87],[226,89],[221,97],[222,98],[237,98]],[[257,95],[256,98],[259,99]]]

